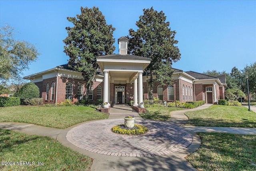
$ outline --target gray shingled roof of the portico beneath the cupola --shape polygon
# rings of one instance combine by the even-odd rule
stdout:
[[[122,60],[135,60],[135,61],[151,61],[150,58],[140,57],[136,55],[120,55],[120,54],[113,54],[113,55],[104,55],[96,57],[96,59],[122,59]]]

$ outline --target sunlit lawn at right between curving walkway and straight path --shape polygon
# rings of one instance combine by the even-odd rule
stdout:
[[[185,115],[189,118],[187,126],[256,128],[256,113],[243,106],[212,105]]]

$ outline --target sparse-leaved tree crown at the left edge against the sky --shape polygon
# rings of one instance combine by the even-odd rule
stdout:
[[[22,71],[37,59],[34,45],[13,38],[14,28],[0,28],[0,81],[21,77]]]

